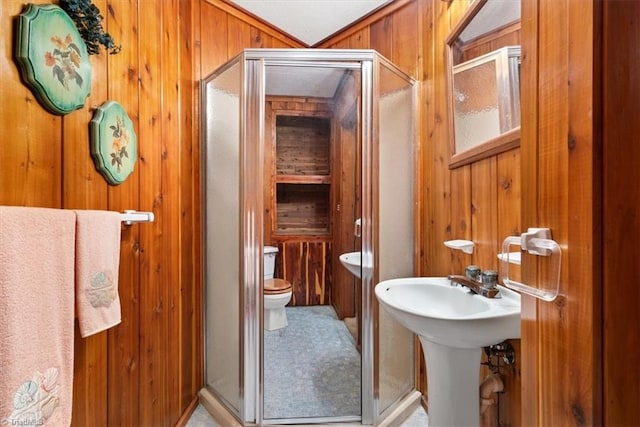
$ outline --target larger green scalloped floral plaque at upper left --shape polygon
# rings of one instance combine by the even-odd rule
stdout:
[[[16,29],[16,62],[38,101],[58,115],[82,108],[91,93],[91,62],[69,15],[56,5],[29,4]]]

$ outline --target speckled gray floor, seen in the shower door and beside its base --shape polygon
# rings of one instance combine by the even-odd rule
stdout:
[[[359,416],[360,354],[345,323],[331,306],[286,311],[289,325],[264,334],[265,418]],[[426,425],[419,408],[402,426]],[[187,426],[217,424],[199,405]]]

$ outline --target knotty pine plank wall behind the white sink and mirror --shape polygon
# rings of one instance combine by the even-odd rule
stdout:
[[[445,39],[470,4],[467,0],[396,1],[320,46],[376,49],[420,82],[417,229],[422,247],[416,273],[423,276],[458,274],[469,264],[497,270],[502,240],[521,231],[519,149],[453,170],[448,167]],[[443,242],[451,239],[473,240],[474,254],[447,250]],[[518,340],[514,347],[519,353]],[[499,413],[491,412],[483,424],[519,425],[519,363],[501,371],[506,393],[500,395]],[[426,385],[421,387],[424,390]]]

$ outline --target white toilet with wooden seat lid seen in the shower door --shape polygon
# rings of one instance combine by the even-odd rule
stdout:
[[[264,328],[268,331],[287,326],[284,306],[291,301],[291,283],[284,279],[274,279],[278,248],[264,247]]]

